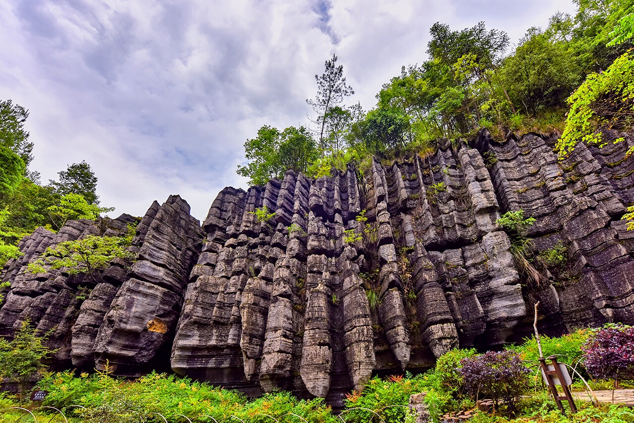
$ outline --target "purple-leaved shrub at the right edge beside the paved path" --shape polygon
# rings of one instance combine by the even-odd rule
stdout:
[[[634,327],[606,325],[593,332],[581,349],[592,377],[634,381]]]

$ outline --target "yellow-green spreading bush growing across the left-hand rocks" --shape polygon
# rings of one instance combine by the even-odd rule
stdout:
[[[47,269],[63,269],[70,275],[93,273],[105,269],[115,258],[133,259],[127,250],[131,241],[127,237],[98,237],[88,235],[76,241],[65,241],[48,247],[36,261],[29,263],[30,273],[44,273]],[[94,275],[93,275],[94,276]]]

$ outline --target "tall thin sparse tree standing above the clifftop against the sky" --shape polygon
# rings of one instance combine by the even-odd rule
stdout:
[[[330,60],[325,62],[325,71],[321,76],[315,75],[317,81],[317,96],[314,100],[306,99],[306,103],[313,107],[313,110],[319,115],[317,118],[320,124],[320,148],[321,155],[325,154],[327,145],[325,144],[324,133],[326,122],[332,119],[333,114],[328,114],[330,109],[339,105],[344,101],[344,97],[354,94],[351,86],[346,85],[346,77],[344,77],[343,65],[337,66],[337,55],[333,54]]]

